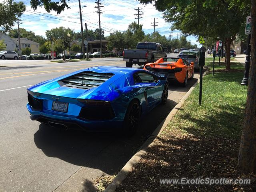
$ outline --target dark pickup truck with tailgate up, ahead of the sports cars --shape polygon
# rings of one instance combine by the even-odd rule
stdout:
[[[126,62],[126,67],[132,67],[132,64],[141,66],[162,57],[166,57],[166,50],[161,44],[154,42],[140,42],[136,49],[125,49],[123,52],[123,61]]]

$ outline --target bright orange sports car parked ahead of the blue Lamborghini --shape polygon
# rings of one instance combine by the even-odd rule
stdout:
[[[158,59],[155,63],[146,64],[144,70],[165,76],[168,80],[177,80],[185,87],[188,79],[194,77],[194,62],[188,64],[182,58],[166,57]]]

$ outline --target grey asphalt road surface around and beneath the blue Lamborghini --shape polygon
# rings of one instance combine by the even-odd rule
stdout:
[[[177,54],[170,54],[177,56]],[[0,60],[0,192],[94,191],[92,179],[116,174],[196,82],[171,83],[168,102],[141,119],[132,138],[58,130],[32,121],[26,88],[79,69],[125,66],[122,58],[55,63]]]

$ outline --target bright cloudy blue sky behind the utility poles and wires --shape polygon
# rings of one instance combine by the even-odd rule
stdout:
[[[30,0],[23,0],[23,2],[26,4],[26,11],[20,18],[22,20],[21,28],[31,30],[36,35],[44,37],[46,30],[60,26],[69,27],[76,32],[81,30],[78,0],[70,0],[68,2],[70,9],[66,9],[58,15],[54,11],[46,12],[43,7],[33,10],[30,6]],[[104,6],[101,8],[103,14],[100,15],[100,21],[105,36],[116,30],[125,31],[130,23],[138,22],[138,19],[135,19],[137,16],[134,16],[134,14],[137,14],[134,9],[138,7],[142,8],[140,13],[143,13],[143,15],[141,15],[140,24],[143,25],[142,30],[145,34],[154,32],[154,27],[151,24],[154,22],[152,18],[157,18],[156,22],[158,23],[155,30],[161,35],[170,36],[171,24],[164,21],[162,12],[156,10],[152,4],[140,4],[136,0],[101,0],[100,2]],[[96,6],[95,0],[81,0],[83,27],[85,28],[84,24],[87,23],[88,29],[91,30],[99,28],[98,14],[95,12],[97,9],[94,6]],[[18,26],[13,28],[18,28]],[[173,38],[177,38],[177,34],[181,34],[181,32],[178,30],[172,31]],[[199,46],[194,36],[188,36],[187,40]]]

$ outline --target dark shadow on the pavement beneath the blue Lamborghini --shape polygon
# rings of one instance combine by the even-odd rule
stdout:
[[[34,142],[46,156],[59,158],[74,165],[116,174],[136,153],[158,124],[177,103],[168,100],[140,120],[137,133],[126,138],[116,132],[81,132],[60,130],[40,124]]]

